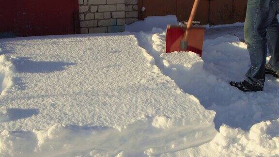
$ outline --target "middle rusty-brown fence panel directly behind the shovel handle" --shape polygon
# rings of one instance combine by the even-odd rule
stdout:
[[[180,22],[187,21],[194,4],[194,0],[177,0],[177,18]],[[209,0],[201,0],[195,21],[200,21],[201,24],[207,24],[209,17]]]

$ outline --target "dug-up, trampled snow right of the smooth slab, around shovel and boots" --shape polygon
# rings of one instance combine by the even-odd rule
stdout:
[[[140,46],[165,75],[196,96],[205,108],[217,112],[215,124],[220,132],[209,143],[161,156],[278,155],[279,81],[268,76],[264,91],[257,93],[239,92],[228,83],[244,79],[249,67],[247,45],[236,36],[207,39],[201,59],[193,52],[164,53],[165,35],[160,29],[136,34]]]

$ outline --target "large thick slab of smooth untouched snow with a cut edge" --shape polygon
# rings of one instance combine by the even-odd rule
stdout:
[[[20,78],[0,99],[1,156],[157,155],[216,135],[215,112],[163,75],[130,33],[0,42]]]

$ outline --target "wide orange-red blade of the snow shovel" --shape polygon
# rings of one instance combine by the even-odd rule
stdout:
[[[186,27],[168,26],[166,34],[166,52],[183,51],[181,41],[186,31]],[[192,27],[188,30],[187,51],[192,51],[202,57],[202,44],[204,37],[204,28]]]

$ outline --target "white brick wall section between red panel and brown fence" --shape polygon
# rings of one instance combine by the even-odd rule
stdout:
[[[125,31],[138,20],[138,0],[78,0],[80,33]]]

